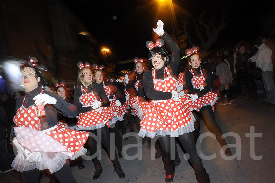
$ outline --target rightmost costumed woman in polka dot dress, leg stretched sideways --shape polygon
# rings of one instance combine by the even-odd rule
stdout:
[[[200,109],[200,112],[192,111],[196,122],[194,123],[195,131],[194,140],[200,136],[200,114],[204,117],[207,126],[216,135],[216,138],[220,145],[223,147],[227,145],[224,138],[222,138],[222,130],[218,126],[214,116],[214,104],[218,100],[217,94],[211,92],[211,76],[210,73],[200,65],[200,55],[197,53],[198,49],[192,47],[192,49],[186,49],[185,53],[188,57],[188,63],[190,68],[184,74],[181,73],[178,76],[179,85],[183,86],[181,92],[188,93],[192,100],[192,103]],[[232,156],[230,148],[225,149],[226,156]]]

